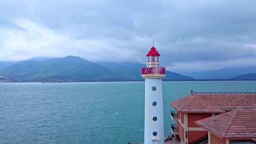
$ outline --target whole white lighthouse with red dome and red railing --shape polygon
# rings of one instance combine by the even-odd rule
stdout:
[[[142,68],[145,79],[145,128],[144,144],[164,144],[164,110],[162,79],[165,68],[160,67],[160,54],[152,46],[146,54],[146,68]]]

